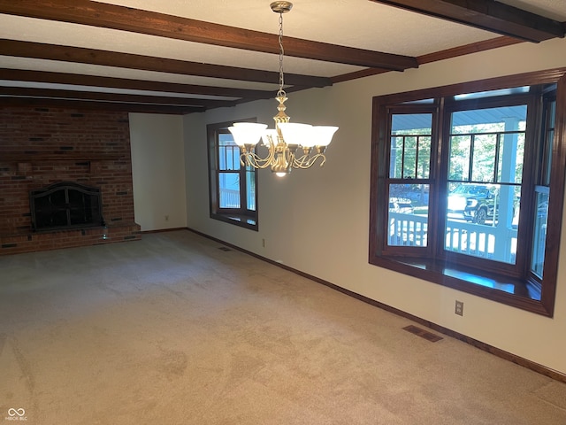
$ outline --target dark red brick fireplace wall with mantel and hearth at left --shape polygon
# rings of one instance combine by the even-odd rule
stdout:
[[[32,232],[29,191],[55,182],[101,188],[107,228]],[[139,238],[127,112],[0,108],[0,255]]]

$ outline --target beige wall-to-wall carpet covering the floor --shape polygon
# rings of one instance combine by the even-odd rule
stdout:
[[[0,423],[566,424],[566,384],[219,247],[0,257]]]

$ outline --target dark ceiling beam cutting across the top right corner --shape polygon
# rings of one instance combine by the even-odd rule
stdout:
[[[371,0],[529,42],[564,36],[564,24],[494,0]]]

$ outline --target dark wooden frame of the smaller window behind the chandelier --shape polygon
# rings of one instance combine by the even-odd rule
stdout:
[[[245,122],[253,122],[255,119],[242,120]],[[238,174],[240,174],[240,208],[221,208],[220,193],[218,186],[218,174],[222,171],[219,170],[218,164],[218,135],[228,134],[228,128],[233,125],[234,121],[219,122],[209,124],[206,126],[207,130],[207,143],[208,143],[208,164],[209,164],[209,200],[210,200],[210,218],[214,220],[224,221],[242,228],[249,228],[251,230],[258,230],[259,225],[257,221],[257,170],[253,170],[254,184],[256,188],[256,209],[250,210],[247,205],[247,170],[241,166]]]

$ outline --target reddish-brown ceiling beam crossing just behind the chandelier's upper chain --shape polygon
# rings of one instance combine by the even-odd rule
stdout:
[[[236,49],[279,53],[278,35],[88,0],[0,0],[0,13],[113,28]],[[408,56],[293,37],[285,37],[285,54],[297,58],[395,71],[418,66],[417,60]]]

